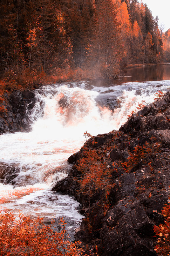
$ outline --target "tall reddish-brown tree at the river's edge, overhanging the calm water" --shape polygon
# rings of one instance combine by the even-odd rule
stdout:
[[[117,18],[118,6],[111,0],[95,1],[93,37],[90,42],[89,62],[96,76],[116,73],[121,55],[121,22]]]

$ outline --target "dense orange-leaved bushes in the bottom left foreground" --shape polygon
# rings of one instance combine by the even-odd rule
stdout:
[[[61,230],[54,232],[43,223],[43,218],[32,220],[20,215],[17,220],[12,213],[0,215],[0,255],[24,256],[78,256],[79,242],[71,243],[65,229],[65,221],[60,219]]]

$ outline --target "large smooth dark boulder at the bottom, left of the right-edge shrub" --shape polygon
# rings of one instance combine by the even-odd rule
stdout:
[[[105,255],[155,255],[147,238],[154,222],[145,213],[139,200],[121,200],[106,214],[100,231]],[[109,227],[109,229],[107,228]],[[109,230],[109,233],[108,233]],[[143,239],[145,237],[145,239]],[[136,248],[136,250],[134,250]],[[152,254],[153,253],[153,254]]]

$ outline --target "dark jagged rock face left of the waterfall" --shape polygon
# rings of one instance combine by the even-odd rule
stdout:
[[[32,109],[35,105],[35,94],[30,90],[13,91],[10,95],[5,94],[4,103],[7,113],[0,117],[0,134],[6,132],[29,132],[31,130],[31,120],[26,110]]]

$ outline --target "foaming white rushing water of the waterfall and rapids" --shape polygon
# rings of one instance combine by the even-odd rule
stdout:
[[[170,91],[169,79],[62,83],[37,90],[35,108],[28,111],[32,131],[0,136],[0,168],[15,168],[0,184],[0,210],[46,219],[64,216],[68,229],[78,226],[83,217],[78,202],[51,192],[71,168],[66,160],[83,145],[86,130],[97,135],[119,129],[138,103],[153,102],[159,90]]]

